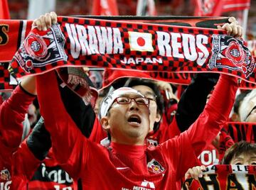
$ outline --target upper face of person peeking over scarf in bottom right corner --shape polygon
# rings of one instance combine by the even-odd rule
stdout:
[[[256,165],[256,155],[255,154],[242,154],[237,157],[233,157],[230,164],[235,165]]]

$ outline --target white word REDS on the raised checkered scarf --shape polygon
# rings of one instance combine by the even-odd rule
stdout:
[[[196,61],[200,66],[206,63],[209,56],[206,48],[206,44],[208,43],[208,37],[206,35],[166,33],[160,31],[156,31],[156,34],[159,55],[186,58],[192,62]]]

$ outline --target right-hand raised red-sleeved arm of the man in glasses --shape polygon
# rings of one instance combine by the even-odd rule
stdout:
[[[228,116],[235,101],[238,82],[235,77],[220,75],[218,84],[210,97],[203,113],[185,133],[191,140],[193,150],[198,156],[218,135],[228,121]]]

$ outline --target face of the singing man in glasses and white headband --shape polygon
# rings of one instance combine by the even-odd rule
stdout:
[[[123,94],[122,97],[137,98],[139,94]],[[129,104],[114,101],[107,117],[101,120],[102,127],[110,132],[111,140],[126,145],[144,145],[149,133],[148,105],[137,104],[134,99]]]

